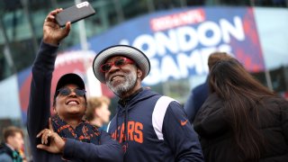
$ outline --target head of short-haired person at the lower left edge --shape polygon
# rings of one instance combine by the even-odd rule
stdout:
[[[4,142],[11,148],[21,150],[24,144],[23,130],[15,126],[9,126],[3,130]]]

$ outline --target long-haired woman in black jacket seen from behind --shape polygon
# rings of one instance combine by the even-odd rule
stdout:
[[[236,58],[211,68],[209,94],[193,122],[206,162],[288,161],[288,102]]]

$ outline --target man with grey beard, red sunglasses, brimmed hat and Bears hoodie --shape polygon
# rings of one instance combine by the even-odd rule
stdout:
[[[93,68],[98,80],[120,97],[108,132],[121,143],[124,161],[203,161],[180,103],[142,87],[150,70],[142,51],[126,45],[103,49]]]

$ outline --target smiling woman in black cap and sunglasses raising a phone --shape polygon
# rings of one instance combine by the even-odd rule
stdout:
[[[69,73],[58,79],[50,116],[51,79],[60,41],[71,23],[60,28],[50,12],[43,24],[43,40],[31,68],[31,94],[27,130],[33,161],[122,161],[121,145],[111,136],[83,121],[86,110],[85,83]]]

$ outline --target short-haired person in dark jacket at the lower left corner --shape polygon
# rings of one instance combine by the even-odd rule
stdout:
[[[24,144],[23,130],[20,128],[9,126],[3,131],[4,143],[0,145],[0,161],[1,162],[23,162],[20,154]]]

